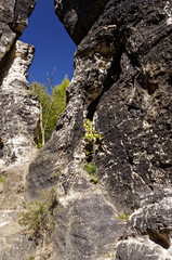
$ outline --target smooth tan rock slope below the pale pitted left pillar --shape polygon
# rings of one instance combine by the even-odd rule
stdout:
[[[32,157],[31,157],[32,156]],[[30,156],[30,160],[35,154]],[[29,161],[3,171],[3,187],[0,192],[0,259],[28,259],[36,251],[35,243],[18,224],[26,202],[26,174]],[[6,168],[3,168],[3,170]]]

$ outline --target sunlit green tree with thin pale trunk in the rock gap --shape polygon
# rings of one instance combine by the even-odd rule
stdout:
[[[38,148],[42,147],[44,142],[51,138],[58,116],[66,107],[66,88],[68,84],[69,80],[65,77],[61,84],[54,88],[51,86],[51,94],[48,93],[48,88],[44,84],[34,82],[29,87],[29,90],[35,92],[40,101],[40,125],[35,138]]]

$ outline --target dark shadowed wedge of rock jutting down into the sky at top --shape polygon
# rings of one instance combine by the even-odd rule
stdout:
[[[85,37],[108,0],[55,0],[55,12],[76,44]]]

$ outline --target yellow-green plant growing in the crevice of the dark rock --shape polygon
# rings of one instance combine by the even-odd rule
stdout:
[[[101,146],[103,138],[100,133],[95,131],[90,119],[85,119],[83,123],[85,133],[83,136],[84,140],[84,153],[88,161],[91,161],[94,146]]]

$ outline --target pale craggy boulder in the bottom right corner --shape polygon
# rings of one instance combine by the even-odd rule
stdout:
[[[128,222],[116,259],[170,260],[171,247],[171,187],[148,194],[141,199],[141,208]]]

